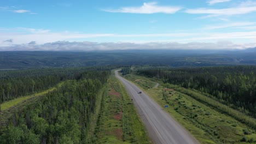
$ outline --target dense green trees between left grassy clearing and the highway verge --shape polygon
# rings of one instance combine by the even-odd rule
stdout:
[[[0,143],[85,143],[96,95],[110,71],[86,71],[38,103],[14,113]]]

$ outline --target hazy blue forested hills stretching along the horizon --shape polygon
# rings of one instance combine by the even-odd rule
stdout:
[[[255,65],[255,55],[256,52],[252,50],[3,51],[0,52],[0,70],[95,65],[167,65],[171,67]]]

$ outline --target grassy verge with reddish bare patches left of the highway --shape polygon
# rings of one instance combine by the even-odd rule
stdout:
[[[92,143],[151,143],[123,85],[114,75],[108,83]]]

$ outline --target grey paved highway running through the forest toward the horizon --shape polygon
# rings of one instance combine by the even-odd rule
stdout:
[[[149,136],[152,137],[155,143],[165,144],[193,144],[199,143],[187,130],[179,125],[168,113],[155,103],[154,100],[144,93],[141,89],[135,86],[130,81],[118,75],[118,70],[115,71],[115,76],[123,82],[131,98],[135,102],[139,115],[148,129]],[[138,92],[142,92],[138,94]]]

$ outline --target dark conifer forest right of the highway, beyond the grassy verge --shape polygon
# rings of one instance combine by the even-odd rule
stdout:
[[[256,117],[255,66],[138,70],[137,74],[211,94],[223,104]]]

